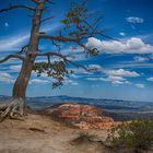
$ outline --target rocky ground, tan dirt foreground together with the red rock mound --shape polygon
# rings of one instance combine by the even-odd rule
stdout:
[[[104,142],[108,129],[118,123],[84,104],[28,111],[24,120],[0,122],[0,153],[115,153]]]

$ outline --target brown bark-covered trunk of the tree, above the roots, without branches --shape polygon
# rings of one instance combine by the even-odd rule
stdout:
[[[45,8],[45,2],[46,0],[43,0],[40,3],[37,3],[37,7],[35,9],[33,23],[32,23],[30,44],[26,51],[26,58],[22,63],[21,72],[13,86],[12,96],[14,98],[24,99],[26,96],[26,87],[28,85],[33,66],[35,62],[35,52],[38,50],[38,44],[39,44],[38,33],[39,33],[42,14]]]

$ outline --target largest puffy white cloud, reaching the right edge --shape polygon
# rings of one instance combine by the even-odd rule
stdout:
[[[141,38],[132,37],[125,42],[99,40],[90,37],[86,43],[87,48],[97,48],[106,54],[153,54],[153,46],[145,44]]]

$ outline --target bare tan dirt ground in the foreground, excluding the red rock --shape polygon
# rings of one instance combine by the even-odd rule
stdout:
[[[28,114],[24,121],[7,119],[0,122],[0,153],[109,153],[101,143],[73,143],[80,132],[105,140],[107,130],[80,130]]]

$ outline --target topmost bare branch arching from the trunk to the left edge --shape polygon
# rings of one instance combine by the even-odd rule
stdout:
[[[0,13],[7,12],[7,11],[10,11],[10,10],[13,10],[13,9],[27,9],[27,10],[35,11],[35,8],[33,8],[33,7],[24,5],[24,4],[16,4],[16,5],[10,5],[9,8],[0,10]]]

